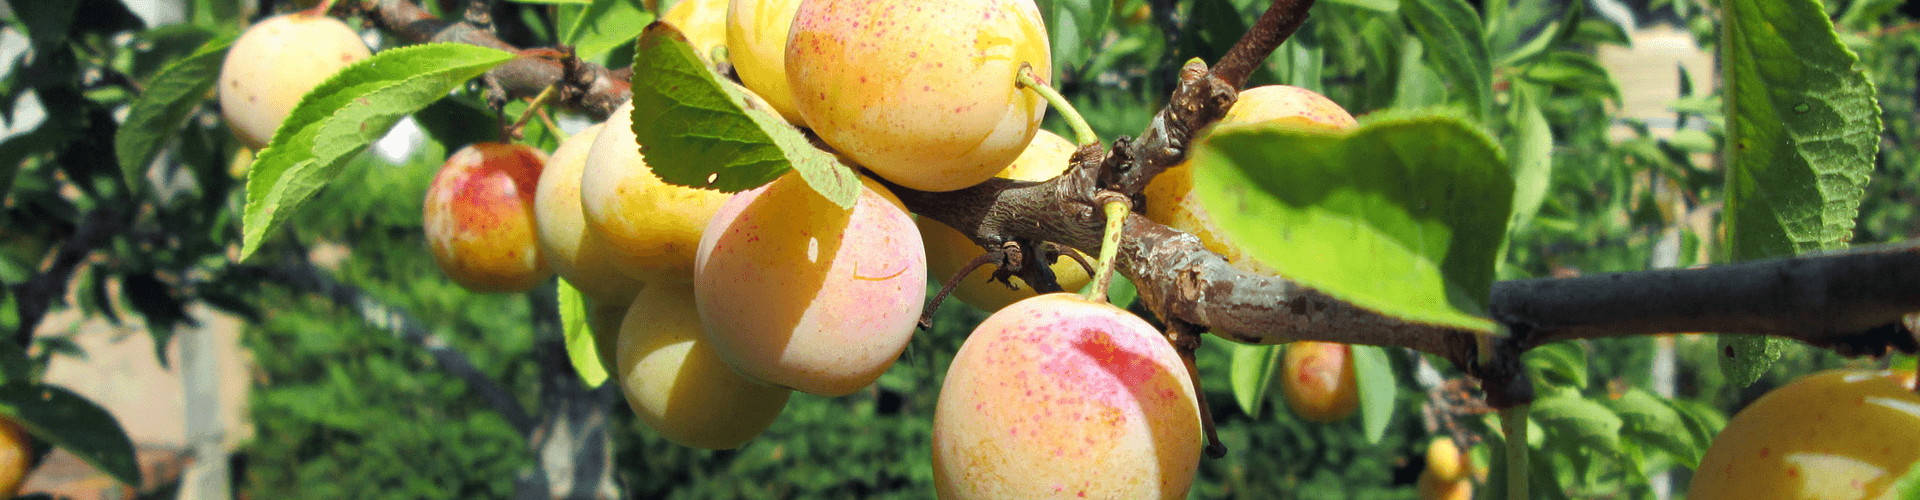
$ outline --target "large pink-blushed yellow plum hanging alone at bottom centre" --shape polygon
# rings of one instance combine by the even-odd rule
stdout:
[[[1200,467],[1187,363],[1144,319],[1077,294],[987,317],[933,410],[941,498],[1185,498]]]

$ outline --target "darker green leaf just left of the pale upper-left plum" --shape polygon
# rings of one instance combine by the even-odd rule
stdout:
[[[227,48],[232,46],[232,37],[209,40],[192,56],[154,75],[146,83],[146,90],[134,98],[127,112],[127,123],[121,123],[113,135],[113,154],[119,156],[127,185],[140,185],[140,175],[146,173],[148,163],[154,163],[159,146],[180,125],[186,125],[186,115],[205,100],[207,90],[221,77],[221,63],[227,60]]]

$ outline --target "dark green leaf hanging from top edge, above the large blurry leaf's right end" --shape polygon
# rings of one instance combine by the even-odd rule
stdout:
[[[1486,54],[1486,35],[1480,15],[1467,0],[1407,0],[1400,4],[1432,67],[1446,77],[1455,96],[1467,100],[1475,119],[1488,119],[1494,110],[1494,69]]]

